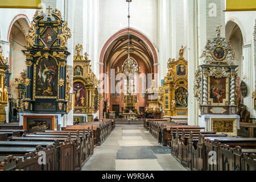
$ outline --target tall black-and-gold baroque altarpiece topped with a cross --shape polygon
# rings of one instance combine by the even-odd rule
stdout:
[[[59,10],[48,10],[48,14],[43,10],[36,11],[26,36],[26,50],[22,51],[27,64],[23,113],[62,115],[70,111],[71,85],[67,70],[67,57],[70,53],[66,45],[71,38],[71,31]],[[49,119],[47,124],[52,129],[53,120],[54,118]],[[26,117],[23,127],[28,125],[24,122],[27,122]],[[35,125],[42,122],[47,121],[40,121]]]

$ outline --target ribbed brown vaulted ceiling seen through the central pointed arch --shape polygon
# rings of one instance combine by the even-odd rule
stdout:
[[[104,62],[109,68],[114,68],[115,64],[127,55],[128,35],[120,36],[115,39],[105,52]],[[137,36],[130,35],[130,55],[137,55],[147,65],[148,71],[154,66],[154,58],[147,44]]]

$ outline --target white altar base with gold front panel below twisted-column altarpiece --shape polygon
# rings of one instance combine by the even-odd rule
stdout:
[[[201,115],[201,127],[205,127],[205,131],[237,136],[237,130],[240,129],[239,123],[240,115]]]

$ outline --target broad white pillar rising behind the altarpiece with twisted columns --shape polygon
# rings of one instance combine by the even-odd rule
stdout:
[[[193,96],[194,73],[203,64],[199,57],[217,24],[222,25],[221,36],[225,37],[224,9],[222,0],[187,0],[188,125],[201,126],[199,104]]]

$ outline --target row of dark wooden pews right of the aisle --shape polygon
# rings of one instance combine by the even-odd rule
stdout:
[[[153,137],[192,171],[256,171],[256,138],[228,137],[164,119],[147,122]]]

